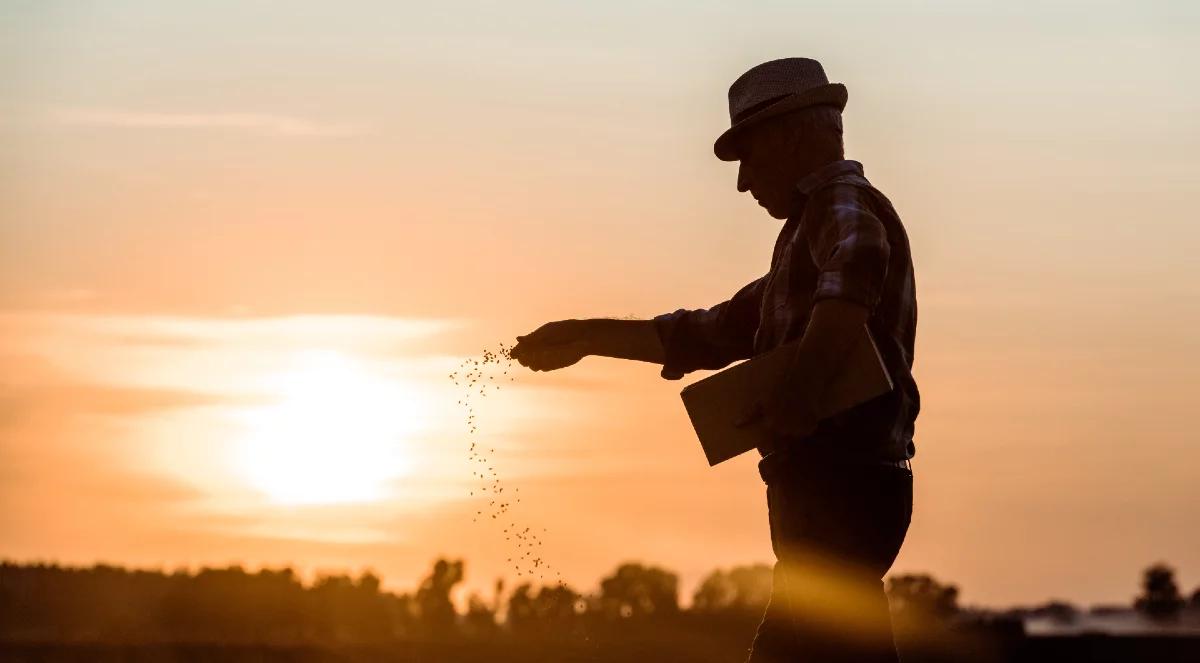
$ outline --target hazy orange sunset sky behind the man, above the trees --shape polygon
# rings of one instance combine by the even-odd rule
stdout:
[[[916,261],[894,569],[988,604],[1124,602],[1158,560],[1200,584],[1188,4],[2,13],[2,557],[404,589],[445,554],[490,586],[508,550],[470,521],[446,374],[762,274],[779,222],[712,141],[738,73],[809,55]],[[578,589],[625,559],[685,592],[768,560],[754,459],[704,465],[682,386],[592,358],[480,410]]]

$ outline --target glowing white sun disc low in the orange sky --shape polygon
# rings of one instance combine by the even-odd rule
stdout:
[[[278,400],[246,412],[240,472],[284,504],[372,502],[410,468],[419,392],[337,351],[307,351],[270,380]]]

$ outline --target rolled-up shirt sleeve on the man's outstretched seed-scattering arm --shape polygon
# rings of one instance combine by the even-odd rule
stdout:
[[[654,317],[662,341],[661,376],[679,380],[698,369],[721,369],[754,356],[762,288],[767,277],[746,283],[708,309],[678,309]]]

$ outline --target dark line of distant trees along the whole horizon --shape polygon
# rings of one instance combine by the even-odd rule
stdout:
[[[191,571],[96,565],[0,563],[0,640],[373,643],[397,639],[589,638],[606,631],[704,628],[752,633],[770,597],[772,567],[713,571],[685,609],[677,574],[628,562],[599,591],[497,580],[490,598],[473,593],[462,610],[451,598],[462,560],[437,560],[410,592],[382,589],[371,572],[322,574],[308,584],[290,568],[239,566]],[[898,629],[962,619],[958,587],[928,574],[893,575],[887,591]],[[1186,598],[1165,565],[1147,568],[1133,607],[1159,620],[1200,611],[1200,587]],[[1052,602],[1021,611],[1062,615]],[[1039,613],[1040,611],[1040,613]],[[978,615],[978,613],[973,613]]]

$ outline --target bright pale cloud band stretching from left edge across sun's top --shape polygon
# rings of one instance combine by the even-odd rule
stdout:
[[[23,392],[29,398],[22,404],[90,400],[106,411],[208,405],[193,402],[193,395],[199,394],[200,401],[208,394],[270,395],[272,380],[294,370],[312,352],[358,358],[380,375],[406,381],[444,380],[456,362],[443,354],[439,339],[462,324],[352,315],[208,318],[0,312],[0,398],[5,384],[82,383],[136,392]]]

